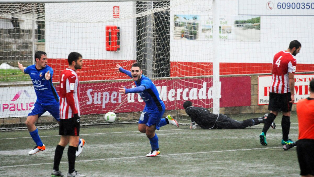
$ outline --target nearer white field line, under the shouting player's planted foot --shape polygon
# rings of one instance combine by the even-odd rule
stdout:
[[[183,129],[184,130],[184,129]],[[204,153],[219,153],[219,152],[236,152],[236,151],[252,151],[252,150],[261,150],[261,149],[276,149],[282,147],[264,147],[264,148],[252,148],[252,149],[232,149],[232,150],[224,150],[224,151],[207,151],[207,152],[189,152],[189,153],[180,153],[180,154],[166,154],[166,155],[159,155],[160,156],[182,156],[182,155],[191,155],[191,154],[204,154]],[[124,160],[124,159],[134,159],[134,158],[147,158],[146,156],[133,156],[133,157],[120,157],[120,158],[100,158],[100,159],[92,159],[92,160],[77,160],[77,162],[93,162],[93,161],[105,161],[105,160]],[[148,157],[154,158],[154,157]],[[158,157],[157,157],[158,158]],[[61,162],[61,163],[68,163],[68,162]],[[12,165],[12,166],[2,166],[0,169],[4,168],[14,168],[14,167],[24,167],[24,166],[40,166],[40,165],[47,165],[53,163],[36,163],[36,164],[25,164],[25,165]]]

